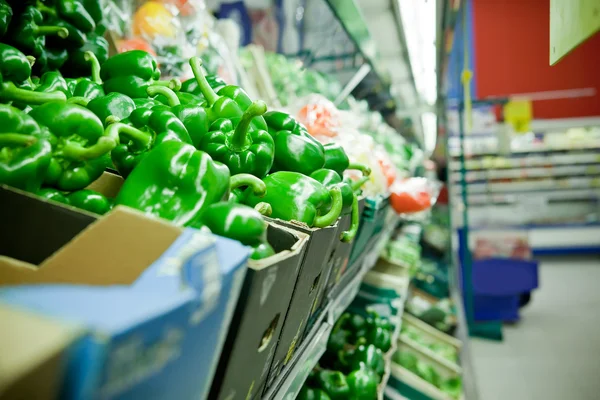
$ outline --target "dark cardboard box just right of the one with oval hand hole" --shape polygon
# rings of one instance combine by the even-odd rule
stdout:
[[[268,220],[303,232],[309,236],[309,240],[265,389],[271,386],[290,362],[305,331],[310,329],[309,320],[317,311],[320,298],[325,291],[333,242],[338,240],[337,224],[326,228],[308,228],[304,224],[270,218]]]

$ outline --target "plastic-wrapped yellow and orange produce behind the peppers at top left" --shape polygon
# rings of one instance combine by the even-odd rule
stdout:
[[[238,83],[231,50],[204,0],[113,0],[106,15],[117,51],[155,55],[164,76],[191,78],[188,60],[199,56],[209,74]]]

